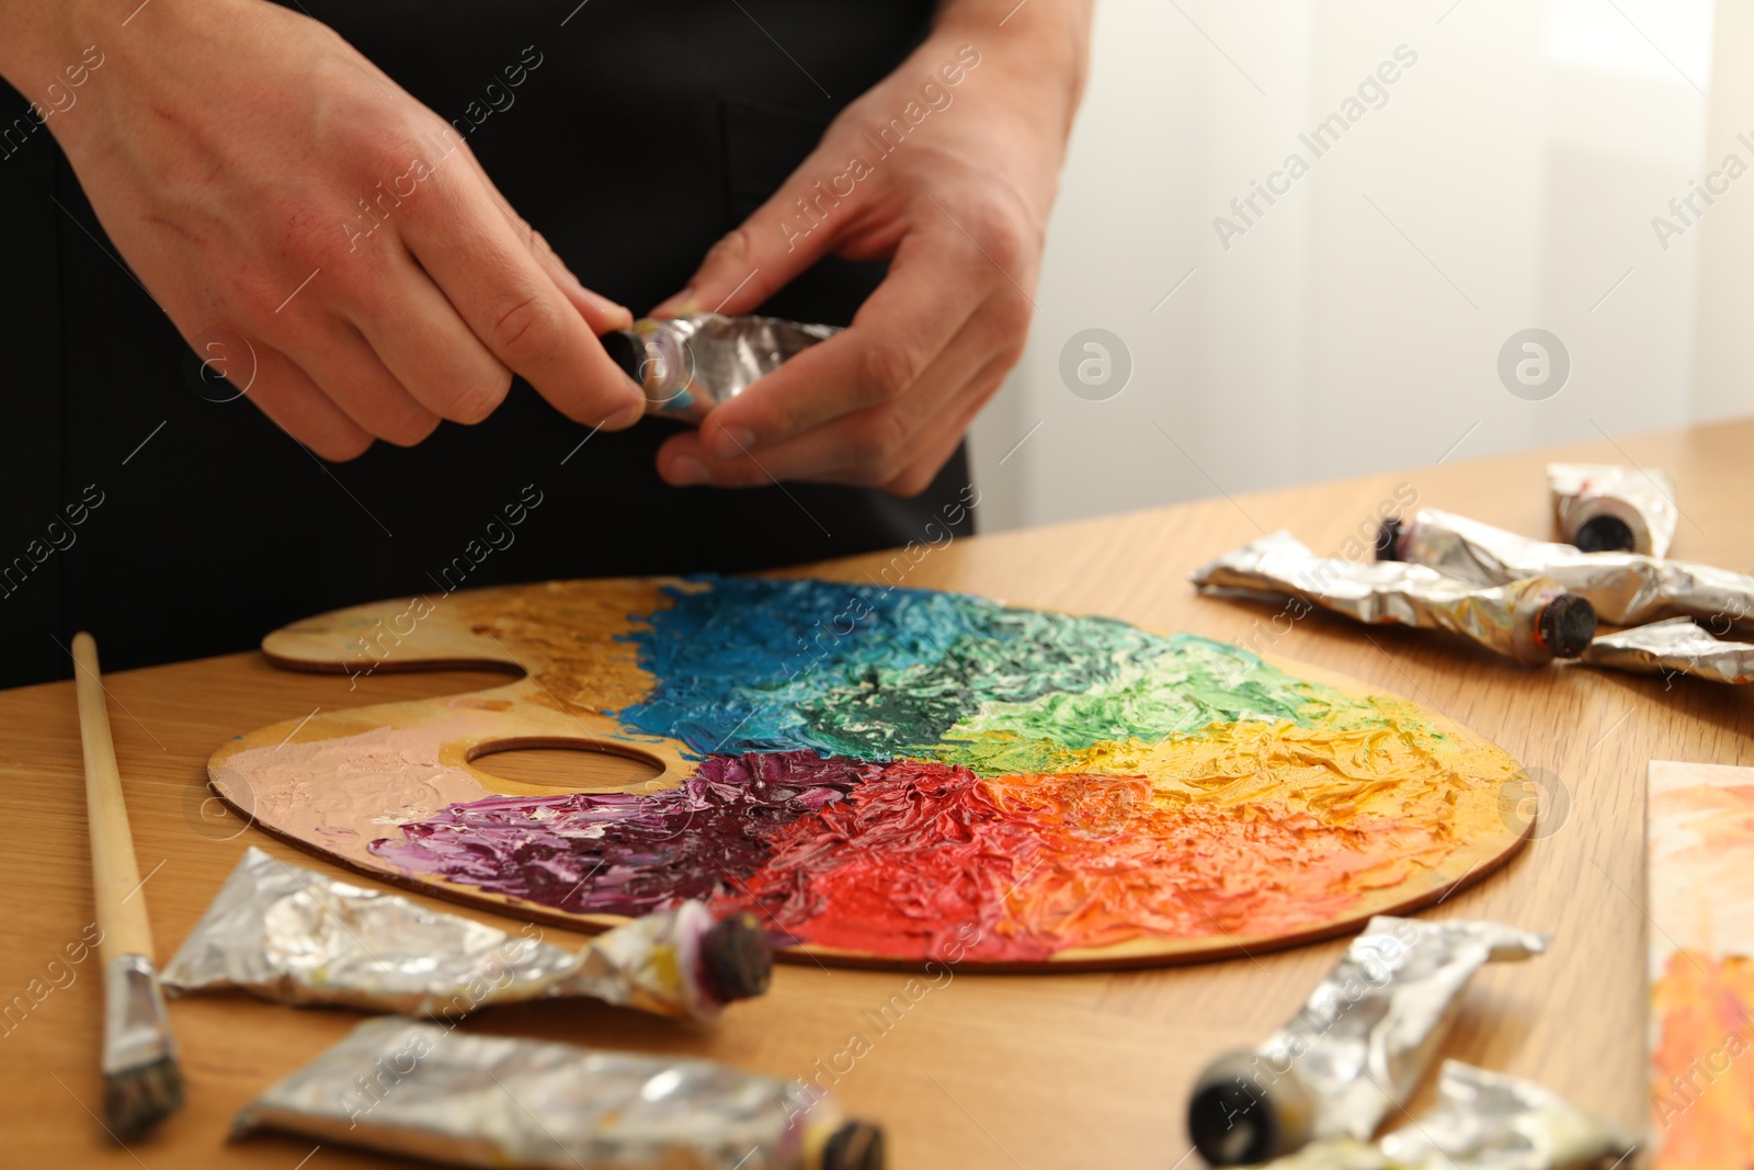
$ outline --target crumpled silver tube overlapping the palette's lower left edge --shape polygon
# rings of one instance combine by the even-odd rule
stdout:
[[[493,1003],[593,996],[710,1021],[774,972],[751,914],[698,902],[637,917],[579,952],[409,898],[286,865],[251,847],[165,968],[174,993],[242,988],[281,1003],[456,1017]]]

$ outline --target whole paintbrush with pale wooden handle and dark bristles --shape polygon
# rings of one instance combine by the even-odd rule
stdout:
[[[182,1072],[165,996],[153,970],[153,926],[133,861],[128,807],[111,742],[98,646],[74,635],[79,740],[86,754],[86,819],[103,960],[103,1114],[119,1142],[144,1135],[182,1105]]]

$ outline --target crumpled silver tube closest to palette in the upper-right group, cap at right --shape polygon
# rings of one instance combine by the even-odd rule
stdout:
[[[1316,556],[1284,530],[1226,553],[1191,579],[1201,589],[1291,595],[1366,624],[1449,630],[1529,667],[1577,658],[1596,631],[1589,602],[1547,577],[1473,586],[1422,565]]]

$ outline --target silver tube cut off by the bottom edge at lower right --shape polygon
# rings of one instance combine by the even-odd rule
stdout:
[[[1531,1081],[1444,1061],[1438,1102],[1375,1145],[1312,1142],[1263,1170],[1610,1170],[1635,1140]]]

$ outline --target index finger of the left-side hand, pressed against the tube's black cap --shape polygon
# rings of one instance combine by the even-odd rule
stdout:
[[[410,219],[403,240],[475,337],[567,417],[607,430],[637,423],[645,396],[484,188],[465,175],[438,195],[444,205]]]

